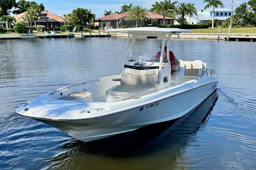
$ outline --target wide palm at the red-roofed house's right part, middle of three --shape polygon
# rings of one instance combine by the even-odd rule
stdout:
[[[163,16],[163,24],[165,24],[165,18],[167,14],[174,13],[176,11],[176,4],[178,2],[175,1],[173,3],[170,2],[170,0],[164,0],[161,2],[155,2],[155,4],[152,5],[152,11],[154,14],[160,14]]]

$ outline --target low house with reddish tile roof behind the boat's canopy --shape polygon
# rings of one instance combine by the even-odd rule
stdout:
[[[103,21],[104,26],[107,28],[121,28],[122,26],[126,26],[127,28],[136,26],[136,22],[134,21],[125,21],[126,15],[129,14],[129,12],[121,13],[121,14],[110,14],[107,16],[103,16],[100,18],[95,19],[95,25],[100,26],[100,23]],[[163,16],[159,14],[153,14],[149,11],[147,11],[147,17],[149,18],[148,21],[142,20],[139,21],[140,25],[148,25],[153,24],[154,22],[156,24],[162,24],[163,23]],[[166,17],[165,18],[165,24],[173,24],[174,18]]]

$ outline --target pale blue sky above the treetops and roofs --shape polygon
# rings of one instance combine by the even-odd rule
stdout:
[[[16,0],[17,1],[17,0]],[[32,1],[32,0],[31,0]],[[58,16],[63,17],[64,14],[71,13],[72,10],[76,8],[86,8],[91,9],[96,17],[101,17],[104,14],[104,10],[111,10],[112,12],[120,11],[121,6],[124,4],[133,4],[135,6],[140,5],[146,9],[150,9],[152,4],[155,3],[155,0],[33,0],[36,3],[42,3],[45,5],[46,10],[51,13],[54,13]],[[159,2],[159,0],[158,0]],[[195,0],[180,0],[179,2],[186,3],[195,3],[196,9],[203,8],[205,4],[203,0],[195,1]],[[232,0],[222,0],[225,8],[231,9]],[[243,0],[234,0],[235,8],[238,7],[241,3],[246,2]]]

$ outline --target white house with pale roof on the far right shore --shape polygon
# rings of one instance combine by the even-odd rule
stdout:
[[[198,24],[200,21],[203,24],[206,24],[207,21],[212,20],[212,8],[204,10],[203,8],[200,8],[197,10],[197,15],[194,15],[192,17],[186,16],[186,20],[189,24]],[[234,11],[233,11],[234,15]],[[231,10],[227,8],[215,8],[215,18],[218,20],[226,20],[227,18],[231,17]]]

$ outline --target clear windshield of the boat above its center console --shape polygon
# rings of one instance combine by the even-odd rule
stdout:
[[[160,62],[161,39],[137,38],[127,50],[127,62]]]

